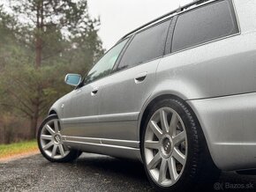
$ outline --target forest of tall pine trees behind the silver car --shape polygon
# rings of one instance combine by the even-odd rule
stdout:
[[[1,3],[2,2],[2,3]],[[102,56],[87,0],[0,2],[0,144],[31,140],[49,107]]]

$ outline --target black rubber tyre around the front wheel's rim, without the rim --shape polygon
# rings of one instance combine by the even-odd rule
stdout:
[[[37,144],[38,144],[38,147],[41,151],[41,154],[42,156],[45,158],[45,159],[48,159],[50,162],[57,162],[57,163],[65,163],[65,162],[72,162],[73,160],[75,159],[78,159],[79,156],[81,155],[81,151],[77,151],[77,150],[66,150],[66,152],[68,154],[66,154],[63,158],[58,158],[58,159],[55,159],[55,158],[52,158],[49,156],[49,154],[47,154],[47,152],[45,150],[42,149],[42,145],[41,145],[41,131],[42,129],[44,128],[44,126],[51,122],[51,121],[54,121],[54,120],[58,120],[58,117],[56,114],[53,114],[53,115],[49,115],[42,123],[41,123],[41,126],[40,128],[38,129],[38,133],[37,133]]]

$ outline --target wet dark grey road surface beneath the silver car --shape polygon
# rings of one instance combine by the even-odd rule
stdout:
[[[212,189],[256,191],[256,176],[223,173]],[[41,155],[0,163],[0,191],[143,192],[154,189],[139,162],[84,153],[76,162],[68,164],[49,163]]]

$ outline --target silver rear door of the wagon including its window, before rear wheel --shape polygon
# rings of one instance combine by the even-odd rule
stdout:
[[[169,25],[170,19],[133,35],[112,75],[101,80],[98,125],[102,144],[139,147],[139,112],[154,89]]]

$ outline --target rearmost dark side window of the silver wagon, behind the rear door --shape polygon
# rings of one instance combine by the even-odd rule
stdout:
[[[238,33],[230,1],[209,4],[177,18],[172,52]]]

